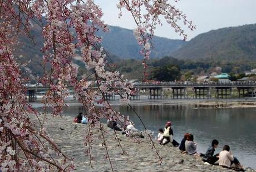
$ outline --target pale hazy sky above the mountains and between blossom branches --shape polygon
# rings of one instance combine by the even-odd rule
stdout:
[[[136,27],[129,13],[124,13],[121,19],[117,17],[118,1],[95,0],[95,2],[101,6],[106,24],[127,29]],[[180,0],[178,3],[171,0],[170,2],[183,11],[188,16],[187,19],[193,21],[197,27],[191,32],[183,26],[188,34],[188,40],[212,29],[256,23],[256,0]],[[182,22],[181,25],[183,25]],[[156,28],[155,35],[183,39],[165,21],[163,21],[163,26]]]

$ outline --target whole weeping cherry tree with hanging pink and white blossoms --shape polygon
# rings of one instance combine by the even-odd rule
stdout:
[[[172,3],[176,3],[173,1]],[[127,10],[137,28],[134,36],[141,45],[145,60],[149,58],[151,36],[160,17],[181,36],[186,34],[179,26],[181,20],[194,29],[186,16],[166,0],[118,0],[117,8]],[[99,29],[107,32],[101,20],[103,12],[93,0],[1,0],[0,1],[0,164],[2,171],[71,171],[72,159],[67,158],[47,135],[43,123],[33,128],[29,115],[40,115],[26,100],[26,88],[20,66],[12,55],[18,36],[31,37],[30,29],[38,24],[45,43],[42,47],[45,75],[40,79],[49,90],[43,98],[45,106],[52,107],[52,115],[60,115],[68,95],[67,85],[73,87],[78,100],[90,114],[90,125],[102,125],[100,118],[107,114],[122,118],[104,98],[105,93],[119,94],[122,103],[133,94],[132,86],[124,76],[107,66],[106,53],[101,47]],[[31,40],[33,41],[33,39]],[[94,80],[77,79],[77,68],[72,63],[76,50],[94,75]],[[146,68],[146,61],[143,64]],[[96,85],[97,89],[92,88]],[[97,99],[96,97],[101,97]],[[103,104],[97,108],[95,104]],[[90,131],[89,134],[90,135]],[[90,136],[85,142],[91,143]],[[47,146],[46,146],[47,145]],[[50,145],[50,146],[49,146]],[[90,146],[89,148],[90,149]],[[60,160],[62,159],[62,160]]]

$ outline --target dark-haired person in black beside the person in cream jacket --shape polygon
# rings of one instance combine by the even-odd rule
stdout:
[[[217,148],[219,145],[219,141],[214,139],[211,141],[211,146],[206,150],[206,153],[204,155],[203,161],[207,162],[209,164],[214,164],[219,159],[219,154],[214,154],[215,148]]]

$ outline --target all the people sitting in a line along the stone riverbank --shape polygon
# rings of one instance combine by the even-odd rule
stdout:
[[[79,113],[73,122],[87,124],[88,119],[86,115]],[[107,115],[107,127],[117,131],[122,131],[122,134],[125,134],[126,136],[140,136],[141,138],[144,138],[144,135],[142,135],[142,133],[140,133],[139,130],[134,127],[134,124],[129,120],[129,117],[122,119],[121,123],[122,126],[118,125],[115,117],[110,117]],[[219,141],[216,139],[211,142],[211,145],[206,150],[205,154],[201,154],[196,151],[197,144],[194,142],[193,134],[185,133],[184,138],[179,144],[173,138],[173,128],[171,126],[171,122],[166,123],[164,130],[159,129],[157,141],[161,145],[171,143],[173,146],[179,146],[179,149],[183,154],[186,153],[189,155],[203,156],[203,161],[205,163],[213,165],[218,164],[223,168],[230,168],[232,164],[235,164],[235,166],[238,168],[238,171],[244,171],[243,166],[239,163],[238,159],[232,155],[229,145],[224,145],[223,150],[220,151],[219,154],[214,155],[214,151],[219,145]]]

